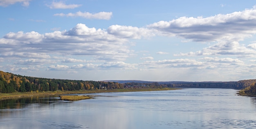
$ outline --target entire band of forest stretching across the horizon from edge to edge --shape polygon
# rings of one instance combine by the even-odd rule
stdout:
[[[233,82],[109,82],[36,78],[0,71],[0,93],[36,91],[76,91],[90,89],[124,89],[124,88],[229,88],[245,89],[256,93],[256,79]]]

